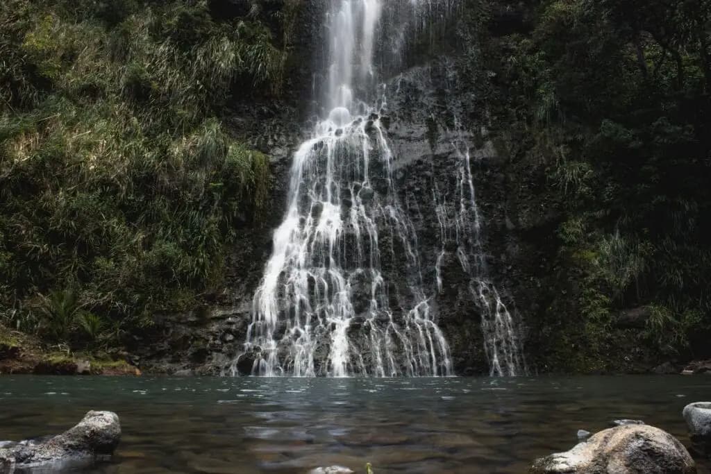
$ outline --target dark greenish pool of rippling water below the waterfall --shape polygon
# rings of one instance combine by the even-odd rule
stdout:
[[[0,440],[116,411],[123,436],[93,473],[525,473],[578,429],[642,419],[689,445],[685,404],[711,377],[265,379],[0,377]],[[697,460],[698,462],[698,460]],[[700,474],[709,474],[700,465]]]

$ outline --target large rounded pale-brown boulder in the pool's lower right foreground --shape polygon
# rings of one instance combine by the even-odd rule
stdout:
[[[686,448],[648,425],[623,425],[595,433],[570,451],[535,461],[532,474],[694,474]]]

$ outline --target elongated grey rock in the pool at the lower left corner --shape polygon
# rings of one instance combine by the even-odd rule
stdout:
[[[119,417],[112,411],[90,411],[64,433],[0,449],[0,474],[41,469],[58,472],[109,458],[121,439]]]

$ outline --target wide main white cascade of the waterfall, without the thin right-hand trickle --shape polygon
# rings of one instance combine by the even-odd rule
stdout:
[[[247,330],[253,375],[452,375],[424,291],[417,236],[392,178],[385,87],[375,87],[384,1],[331,2],[321,100],[330,112],[294,155],[288,210]],[[444,4],[400,2],[411,20]],[[380,90],[375,104],[359,100],[373,90]],[[405,285],[386,279],[384,260],[400,268]]]

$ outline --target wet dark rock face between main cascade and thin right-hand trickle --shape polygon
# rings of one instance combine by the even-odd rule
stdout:
[[[483,117],[477,115],[471,91],[459,90],[461,84],[450,58],[403,72],[387,87],[392,91],[388,96],[391,122],[387,131],[395,152],[393,166],[400,199],[417,234],[424,286],[432,295],[435,321],[450,345],[454,372],[480,375],[489,373],[483,349],[482,308],[471,291],[471,274],[464,269],[455,242],[458,231],[454,211],[461,205],[459,173],[466,151],[471,156],[476,203],[481,211],[481,262],[470,258],[470,263],[486,267],[486,277],[496,284],[512,313],[515,298],[510,289],[518,286],[518,281],[507,278],[508,264],[501,258],[506,252],[502,247],[507,244],[502,234],[506,229],[496,222],[505,218],[492,205],[501,196],[480,191],[481,184],[489,181],[488,174],[498,166],[498,153],[486,128],[477,125],[480,119],[483,123]],[[438,208],[439,216],[444,208],[449,220],[444,232]]]

